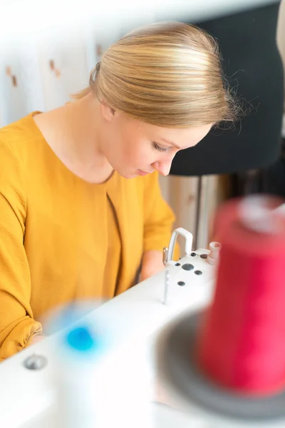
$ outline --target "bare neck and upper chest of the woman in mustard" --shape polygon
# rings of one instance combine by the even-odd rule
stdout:
[[[35,116],[56,156],[79,177],[102,183],[113,171],[102,151],[100,103],[90,93],[81,100]]]

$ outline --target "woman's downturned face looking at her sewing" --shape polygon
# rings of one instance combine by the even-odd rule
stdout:
[[[177,151],[195,146],[212,124],[187,129],[162,128],[102,106],[104,139],[101,150],[114,170],[125,178],[157,170],[168,175]]]

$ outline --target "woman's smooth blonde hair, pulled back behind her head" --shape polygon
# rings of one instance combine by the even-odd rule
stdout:
[[[233,121],[235,103],[217,42],[194,25],[151,24],[110,46],[90,73],[101,103],[167,128]]]

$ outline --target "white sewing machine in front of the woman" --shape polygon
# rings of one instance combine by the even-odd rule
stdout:
[[[185,238],[185,254],[179,261],[173,261],[177,235]],[[175,370],[165,370],[171,353],[173,357],[170,348],[165,354],[167,346],[171,345],[169,331],[173,332],[173,326],[183,324],[212,300],[219,250],[218,243],[211,243],[207,250],[193,251],[191,233],[182,228],[175,230],[169,248],[165,249],[165,271],[100,305],[77,320],[73,327],[64,327],[2,362],[0,426],[284,427],[285,418],[282,417],[267,420],[257,418],[256,414],[255,417],[246,414],[241,417],[240,402],[237,402],[239,417],[234,417],[237,409],[234,406],[233,414],[228,412],[232,403],[229,402],[228,408],[227,397],[225,412],[219,411],[223,402],[219,402],[219,393],[213,404],[215,398],[212,400],[204,395],[201,384],[197,387],[197,379],[193,379],[197,393],[189,399],[179,382],[172,382],[169,376],[169,372],[175,374]],[[108,337],[101,347],[103,351],[100,346],[95,349],[94,364],[84,355],[72,359],[70,349],[66,352],[68,331],[73,329],[74,332],[78,326],[91,326],[91,330],[94,327],[103,342],[104,336]],[[157,393],[155,385],[160,392]],[[85,412],[89,412],[89,420],[83,421]]]

